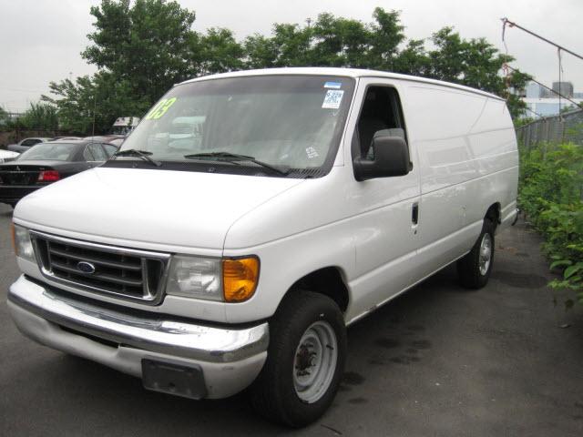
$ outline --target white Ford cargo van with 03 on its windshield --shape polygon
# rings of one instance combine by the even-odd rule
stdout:
[[[18,203],[8,306],[147,389],[251,386],[302,426],[338,389],[346,326],[455,261],[486,284],[517,166],[505,102],[476,89],[335,68],[190,80],[116,158]]]

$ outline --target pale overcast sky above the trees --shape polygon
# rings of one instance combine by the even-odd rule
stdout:
[[[26,109],[48,83],[91,74],[79,53],[93,30],[90,5],[99,0],[0,0],[0,106]],[[486,37],[504,51],[500,18],[523,25],[561,46],[583,54],[583,0],[179,0],[194,10],[194,28],[228,27],[242,39],[269,35],[273,23],[304,23],[322,12],[372,21],[376,6],[402,11],[405,35],[426,38],[453,25],[465,38]],[[550,86],[557,80],[557,50],[518,29],[506,30],[514,66]],[[563,56],[565,80],[583,92],[583,61]]]

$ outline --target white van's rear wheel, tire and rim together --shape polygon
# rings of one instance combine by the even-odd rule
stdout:
[[[487,284],[494,265],[495,231],[494,222],[484,219],[476,244],[464,258],[457,261],[457,276],[463,287],[477,290]]]

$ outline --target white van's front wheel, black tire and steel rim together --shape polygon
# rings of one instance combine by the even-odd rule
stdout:
[[[292,291],[270,322],[268,356],[251,386],[254,409],[294,428],[319,419],[343,375],[346,328],[342,311],[322,294]]]

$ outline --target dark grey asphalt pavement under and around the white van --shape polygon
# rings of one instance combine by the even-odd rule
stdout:
[[[583,435],[583,307],[566,311],[566,295],[547,289],[540,239],[524,222],[496,240],[485,289],[461,289],[450,267],[353,325],[331,410],[292,431],[264,422],[242,394],[145,391],[23,337],[5,304],[19,275],[11,216],[0,204],[1,436]]]

